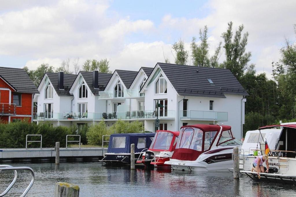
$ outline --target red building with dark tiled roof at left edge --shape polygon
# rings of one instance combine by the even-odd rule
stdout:
[[[0,67],[0,120],[32,121],[35,93],[39,92],[24,69]]]

